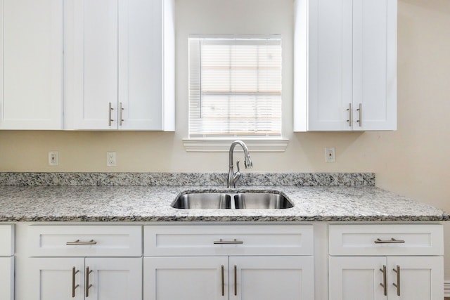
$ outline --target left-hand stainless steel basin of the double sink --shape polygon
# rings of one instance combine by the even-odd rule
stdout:
[[[225,193],[181,194],[171,204],[176,209],[231,209],[231,196]]]

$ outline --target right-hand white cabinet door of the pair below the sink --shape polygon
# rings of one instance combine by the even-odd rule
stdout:
[[[230,256],[230,299],[314,299],[312,256]]]

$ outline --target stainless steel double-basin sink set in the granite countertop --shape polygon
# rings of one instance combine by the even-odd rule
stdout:
[[[282,193],[181,193],[171,204],[176,209],[289,209],[294,207]]]

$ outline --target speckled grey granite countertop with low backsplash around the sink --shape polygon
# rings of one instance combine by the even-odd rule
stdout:
[[[192,179],[191,175],[188,177]],[[221,176],[223,175],[221,174]],[[3,179],[8,177],[11,183],[13,182],[11,178],[23,178],[24,174],[0,174],[0,179],[2,176]],[[70,174],[70,176],[74,176],[74,174]],[[121,176],[119,177],[122,178]],[[167,185],[99,186],[94,183],[91,185],[56,185],[46,181],[39,181],[40,184],[31,184],[32,181],[22,183],[15,181],[15,185],[8,185],[6,181],[3,183],[0,181],[0,221],[450,220],[449,214],[435,207],[376,188],[373,186],[375,182],[373,174],[309,174],[302,176],[283,174],[278,175],[278,177],[284,178],[281,183],[292,185],[270,186],[262,185],[262,182],[255,178],[252,180],[244,178],[243,183],[257,184],[233,189],[224,188],[224,185],[192,185],[191,179],[180,181],[181,179],[177,176],[185,175],[167,176],[174,180],[173,184]],[[217,178],[221,178],[221,176],[217,175]],[[258,176],[262,176],[262,174],[256,177]],[[49,177],[58,178],[58,176]],[[209,174],[208,177],[216,178],[216,175]],[[311,184],[307,186],[295,184],[298,181],[293,181],[294,177],[297,179],[323,177],[322,179],[327,181],[328,185],[319,185],[323,181],[317,180],[309,182]],[[269,182],[272,182],[272,179],[274,178],[269,178]],[[202,181],[202,183],[206,182]],[[167,183],[167,180],[160,180],[158,183]],[[290,209],[174,209],[170,207],[176,196],[184,191],[239,193],[241,191],[261,192],[267,190],[280,191],[293,202],[294,207]]]

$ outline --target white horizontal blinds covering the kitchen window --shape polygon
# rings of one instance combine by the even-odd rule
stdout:
[[[281,38],[189,38],[189,137],[281,137]]]

